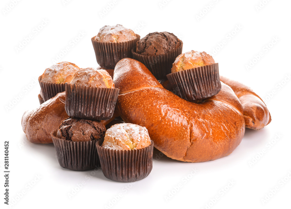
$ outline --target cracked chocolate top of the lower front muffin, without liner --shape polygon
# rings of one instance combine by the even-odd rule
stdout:
[[[99,120],[67,118],[61,122],[57,137],[72,141],[90,141],[104,138],[106,128]]]

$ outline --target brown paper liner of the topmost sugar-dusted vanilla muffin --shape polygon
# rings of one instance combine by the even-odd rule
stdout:
[[[136,39],[131,41],[120,43],[103,43],[95,40],[94,37],[91,38],[91,41],[95,51],[97,63],[101,67],[107,69],[114,69],[116,63],[123,58],[133,58],[131,50],[136,48],[136,42],[141,38],[140,35],[136,34]]]

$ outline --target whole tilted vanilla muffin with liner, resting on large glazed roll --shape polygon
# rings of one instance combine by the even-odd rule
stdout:
[[[219,67],[206,52],[189,51],[179,55],[167,78],[173,92],[190,102],[202,102],[221,90]]]

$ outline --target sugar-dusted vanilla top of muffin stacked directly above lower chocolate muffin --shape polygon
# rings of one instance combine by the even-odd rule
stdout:
[[[70,84],[86,87],[114,88],[111,76],[106,70],[94,68],[81,68],[76,71]]]

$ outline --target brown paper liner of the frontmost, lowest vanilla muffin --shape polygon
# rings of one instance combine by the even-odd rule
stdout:
[[[120,182],[139,181],[152,170],[154,143],[143,149],[114,150],[101,147],[103,140],[96,143],[101,169],[107,179]]]

